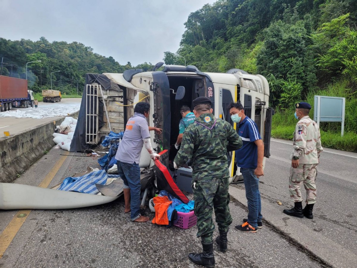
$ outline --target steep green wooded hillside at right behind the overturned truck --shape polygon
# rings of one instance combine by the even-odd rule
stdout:
[[[322,142],[357,152],[356,25],[355,0],[218,0],[188,16],[176,53],[201,71],[267,77],[274,137],[292,138],[294,103],[346,97],[347,133],[341,138],[341,124],[321,123]],[[169,51],[164,60],[184,62]]]

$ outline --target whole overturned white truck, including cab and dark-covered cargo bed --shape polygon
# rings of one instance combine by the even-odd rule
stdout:
[[[213,113],[217,118],[231,121],[228,104],[239,100],[245,114],[257,123],[265,145],[264,162],[270,156],[272,108],[268,107],[269,86],[265,77],[231,69],[227,73],[200,72],[195,66],[166,65],[162,71],[144,72],[127,70],[123,74],[87,74],[84,97],[71,151],[84,151],[97,144],[110,130],[124,130],[127,120],[133,115],[130,105],[135,100],[150,103],[149,126],[163,129],[162,134],[151,132],[156,152],[168,150],[162,163],[170,170],[177,150],[174,147],[178,136],[178,123],[182,105],[192,107],[192,100],[206,96],[212,100]],[[235,164],[235,152],[228,153],[230,182],[241,180],[239,167]],[[154,163],[146,150],[142,151],[140,167],[149,168]],[[185,176],[187,170],[184,172]],[[189,173],[189,171],[188,171]]]

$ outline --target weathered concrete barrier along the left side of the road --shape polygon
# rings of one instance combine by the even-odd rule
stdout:
[[[79,111],[69,116],[78,117]],[[44,153],[55,146],[52,134],[65,116],[22,131],[10,137],[0,138],[0,182],[12,182]]]

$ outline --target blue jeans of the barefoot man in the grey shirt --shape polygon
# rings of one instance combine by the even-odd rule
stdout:
[[[124,181],[124,188],[130,188],[130,218],[132,221],[139,218],[140,215],[140,167],[139,164],[125,163],[121,161],[116,162],[118,167],[118,174]]]

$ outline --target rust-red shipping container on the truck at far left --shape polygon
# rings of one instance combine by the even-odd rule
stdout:
[[[27,80],[0,76],[0,100],[12,98],[27,98]]]

